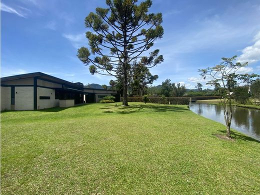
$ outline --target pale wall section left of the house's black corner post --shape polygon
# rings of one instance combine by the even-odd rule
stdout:
[[[14,91],[14,109],[33,110],[33,86],[15,86]]]

